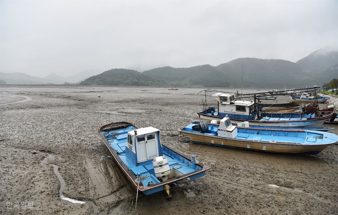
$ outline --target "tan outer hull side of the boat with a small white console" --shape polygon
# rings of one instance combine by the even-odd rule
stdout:
[[[267,143],[252,142],[246,140],[233,140],[229,138],[210,136],[205,134],[197,134],[179,130],[181,134],[188,136],[191,142],[197,144],[205,144],[211,146],[228,147],[242,150],[252,150],[259,152],[281,153],[281,154],[307,154],[315,155],[323,151],[327,145],[301,145],[301,144],[283,144],[283,143]]]

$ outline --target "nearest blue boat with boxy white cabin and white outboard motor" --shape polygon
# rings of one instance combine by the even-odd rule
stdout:
[[[170,198],[170,184],[202,177],[210,168],[162,143],[160,130],[154,127],[114,122],[99,127],[98,134],[137,194],[165,191]]]

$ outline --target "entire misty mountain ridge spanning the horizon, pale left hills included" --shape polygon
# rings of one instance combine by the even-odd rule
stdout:
[[[221,63],[217,66],[211,66],[209,64],[197,65],[188,68],[164,66],[143,72],[132,69],[110,69],[108,70],[111,75],[109,78],[107,76],[108,73],[105,73],[107,71],[101,72],[97,69],[89,69],[81,71],[68,78],[63,78],[55,73],[52,73],[45,78],[39,78],[29,76],[24,73],[15,73],[13,76],[14,73],[0,72],[0,80],[5,81],[6,83],[19,83],[20,80],[23,82],[21,84],[29,84],[31,82],[34,84],[79,83],[85,85],[120,85],[123,82],[125,84],[138,83],[142,84],[142,86],[145,83],[148,83],[151,86],[158,84],[159,86],[176,87],[239,87],[239,85],[242,86],[243,84],[243,87],[295,88],[306,85],[321,86],[334,78],[338,78],[337,65],[337,51],[317,50],[297,62],[291,62],[283,59],[242,57],[231,60],[227,63]],[[134,77],[128,76],[128,81],[121,80],[120,78],[123,77],[123,74],[120,73],[121,71],[133,73]],[[105,73],[105,78],[108,78],[111,82],[107,82],[107,80],[102,79],[102,83],[98,83],[97,80],[100,79],[99,77],[96,77],[96,81],[92,83],[90,82],[94,80],[91,79],[91,77],[101,75],[103,73]],[[146,81],[144,76],[139,76],[139,73],[148,76],[149,81]],[[116,75],[121,77],[117,77]],[[11,78],[8,78],[8,76]],[[114,78],[119,78],[121,82],[114,82]],[[139,82],[137,78],[140,78],[142,81]]]

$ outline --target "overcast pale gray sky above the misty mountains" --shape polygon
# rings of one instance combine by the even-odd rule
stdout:
[[[338,50],[338,0],[0,0],[0,72],[292,62]]]

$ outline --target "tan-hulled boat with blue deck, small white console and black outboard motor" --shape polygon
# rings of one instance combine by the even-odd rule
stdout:
[[[329,132],[237,127],[228,116],[219,124],[191,121],[178,131],[193,143],[270,153],[314,155],[338,142]]]

